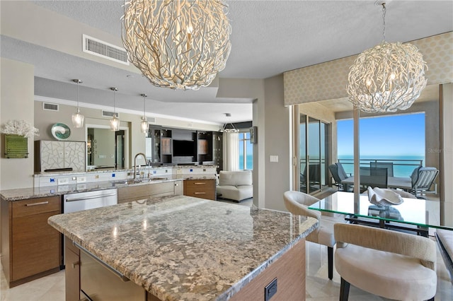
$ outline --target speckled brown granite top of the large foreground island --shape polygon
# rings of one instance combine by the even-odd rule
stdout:
[[[171,196],[49,224],[161,300],[229,300],[317,226],[314,218]]]

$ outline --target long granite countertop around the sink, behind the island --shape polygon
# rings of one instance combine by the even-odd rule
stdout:
[[[47,187],[30,187],[21,189],[6,189],[0,191],[1,199],[4,201],[21,201],[24,199],[42,198],[45,196],[61,196],[63,194],[74,194],[77,192],[97,191],[119,187],[130,187],[137,185],[156,184],[161,182],[178,181],[180,179],[215,179],[214,175],[173,175],[156,177],[152,181],[145,179],[143,182],[128,183],[127,179],[102,182],[86,182],[81,184],[55,185]]]

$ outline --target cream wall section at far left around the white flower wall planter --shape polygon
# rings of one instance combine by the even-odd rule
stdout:
[[[0,59],[0,124],[23,119],[34,124],[34,67],[19,61]],[[0,190],[33,187],[33,138],[28,138],[28,158],[4,158],[4,134],[0,139]]]

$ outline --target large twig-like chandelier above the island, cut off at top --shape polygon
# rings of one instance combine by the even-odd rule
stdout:
[[[210,85],[231,49],[227,8],[223,0],[125,0],[128,59],[157,87]]]

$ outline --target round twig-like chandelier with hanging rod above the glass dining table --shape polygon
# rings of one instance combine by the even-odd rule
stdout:
[[[363,112],[406,110],[425,88],[428,66],[417,47],[386,42],[385,2],[376,4],[382,5],[384,40],[359,54],[350,67],[349,100]]]

